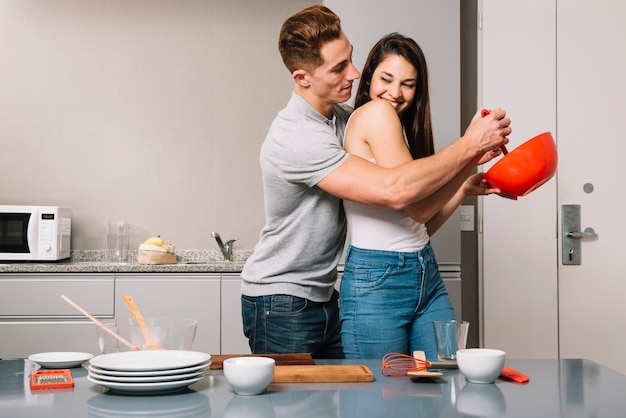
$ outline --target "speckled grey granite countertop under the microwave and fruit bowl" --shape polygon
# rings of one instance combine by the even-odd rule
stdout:
[[[3,262],[0,273],[239,273],[250,254],[235,251],[233,261],[226,261],[217,250],[176,250],[176,264],[139,265],[137,251],[121,264],[107,261],[106,250],[84,250],[55,262]]]

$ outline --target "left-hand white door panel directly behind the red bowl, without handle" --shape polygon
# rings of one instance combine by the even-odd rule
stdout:
[[[479,103],[512,119],[508,148],[556,130],[555,0],[483,0]],[[487,170],[489,167],[484,167]],[[482,207],[482,342],[510,358],[558,356],[556,180]]]

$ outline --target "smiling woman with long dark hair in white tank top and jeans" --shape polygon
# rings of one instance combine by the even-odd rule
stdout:
[[[377,100],[382,99],[382,100]],[[415,41],[397,33],[370,52],[346,128],[344,147],[375,164],[395,167],[434,153],[426,59]],[[346,358],[381,358],[423,350],[437,357],[432,321],[454,311],[430,236],[471,195],[490,194],[473,161],[440,189],[404,210],[344,201],[349,242],[340,289]]]

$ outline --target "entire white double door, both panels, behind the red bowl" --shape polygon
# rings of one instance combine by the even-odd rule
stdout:
[[[516,202],[482,200],[484,345],[517,358],[588,358],[626,373],[626,3],[482,3],[482,103],[509,111],[511,146],[550,130],[559,151],[557,176],[542,188]],[[562,207],[571,204],[580,205],[581,229],[598,234],[581,240],[580,265],[561,257]]]

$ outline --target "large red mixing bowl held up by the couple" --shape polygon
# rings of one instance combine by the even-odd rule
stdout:
[[[544,132],[503,156],[485,173],[485,180],[503,195],[525,196],[554,176],[557,163],[554,138]]]

